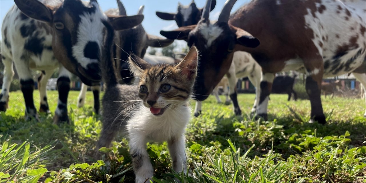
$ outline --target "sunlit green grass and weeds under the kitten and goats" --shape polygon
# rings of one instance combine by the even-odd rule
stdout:
[[[39,107],[38,91],[34,92]],[[116,138],[108,160],[93,159],[101,131],[93,114],[92,94],[85,108],[76,108],[78,92],[68,100],[72,124],[52,124],[57,92],[48,92],[52,114],[41,123],[24,121],[21,92],[10,93],[10,108],[0,112],[0,182],[81,183],[134,182],[128,141]],[[203,113],[186,132],[190,175],[175,174],[167,144],[149,144],[155,182],[366,182],[365,101],[323,98],[328,124],[309,124],[310,102],[270,96],[269,121],[253,120],[254,94],[239,94],[242,117],[232,106],[210,96]],[[194,104],[194,103],[193,103]],[[107,164],[107,165],[105,165]]]

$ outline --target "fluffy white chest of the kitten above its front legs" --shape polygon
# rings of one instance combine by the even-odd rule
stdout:
[[[190,109],[179,106],[161,116],[154,116],[148,108],[141,107],[128,122],[128,133],[147,141],[163,142],[184,134],[190,119]]]

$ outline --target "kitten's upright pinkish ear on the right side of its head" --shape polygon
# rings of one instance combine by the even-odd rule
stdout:
[[[198,61],[198,51],[195,46],[193,46],[184,59],[176,65],[180,68],[180,72],[187,76],[187,79],[192,80],[196,78],[197,75],[197,61]]]

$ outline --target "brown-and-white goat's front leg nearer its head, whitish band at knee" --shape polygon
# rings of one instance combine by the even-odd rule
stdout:
[[[267,109],[268,109],[269,94],[271,93],[272,90],[273,79],[275,79],[275,74],[269,72],[262,73],[257,116],[263,117],[264,120],[268,120]]]

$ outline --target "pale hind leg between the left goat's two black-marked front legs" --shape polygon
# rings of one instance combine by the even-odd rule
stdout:
[[[51,78],[53,70],[42,71],[40,77],[38,77],[38,90],[40,90],[40,112],[45,112],[47,114],[51,113],[49,111],[49,106],[47,102],[47,82]]]

